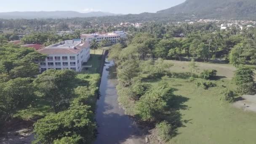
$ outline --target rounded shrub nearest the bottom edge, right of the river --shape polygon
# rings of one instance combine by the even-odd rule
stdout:
[[[172,135],[172,126],[168,124],[166,121],[158,123],[155,127],[157,138],[161,143],[165,143],[166,141],[171,139]]]

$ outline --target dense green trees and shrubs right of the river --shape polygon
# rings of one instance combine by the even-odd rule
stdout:
[[[245,33],[253,32],[253,29],[251,30],[248,29]],[[182,125],[175,103],[178,96],[174,94],[175,88],[168,83],[168,78],[189,78],[190,82],[195,83],[196,88],[203,90],[218,87],[215,82],[218,79],[217,70],[205,69],[198,75],[195,73],[198,66],[194,59],[211,61],[211,59],[224,58],[222,62],[230,61],[235,66],[243,67],[237,69],[235,74],[234,82],[238,89],[244,90],[240,90],[239,93],[245,94],[248,89],[255,92],[253,71],[243,65],[255,64],[253,62],[255,53],[245,52],[254,51],[253,37],[231,31],[231,33],[228,33],[229,31],[213,33],[208,29],[204,32],[187,31],[185,38],[176,39],[158,32],[160,31],[138,33],[128,38],[127,46],[115,45],[109,53],[109,59],[115,60],[117,64],[119,81],[117,90],[120,102],[125,105],[129,103],[127,100],[132,101],[135,108],[130,109],[128,113],[136,117],[139,123],[146,124],[149,128],[155,127],[155,131],[160,134],[157,135],[159,141],[168,141],[176,135],[176,128]],[[247,47],[240,49],[246,50],[238,49],[240,54],[233,55],[232,51],[243,43],[246,43]],[[194,59],[189,63],[190,72],[184,73],[171,72],[173,64],[164,61],[164,59],[189,61],[191,57]],[[234,62],[232,59],[238,61]],[[157,82],[154,85],[147,85],[146,83],[150,81]],[[249,81],[251,83],[247,83]],[[240,85],[241,83],[247,86]],[[248,85],[252,86],[248,87]],[[235,99],[235,93],[230,90],[225,90],[219,95],[220,102],[233,102]]]

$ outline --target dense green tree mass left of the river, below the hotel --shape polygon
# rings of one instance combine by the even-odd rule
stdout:
[[[35,144],[90,143],[100,75],[53,69],[40,74],[45,57],[32,48],[0,45],[0,132],[13,118],[33,119]]]

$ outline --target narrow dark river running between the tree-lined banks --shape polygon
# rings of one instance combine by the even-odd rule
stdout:
[[[99,134],[94,144],[144,144],[139,128],[118,104],[116,85],[114,62],[106,59],[96,110]]]

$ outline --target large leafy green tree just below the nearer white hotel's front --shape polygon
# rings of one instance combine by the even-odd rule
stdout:
[[[72,70],[49,69],[38,75],[34,84],[45,99],[51,102],[54,112],[57,113],[69,107],[74,78],[75,72]]]

